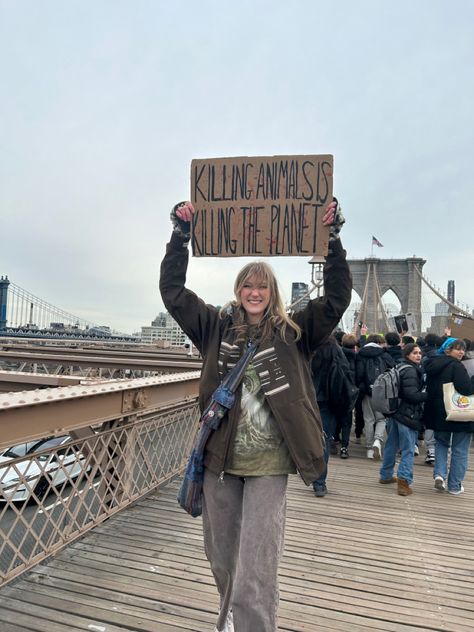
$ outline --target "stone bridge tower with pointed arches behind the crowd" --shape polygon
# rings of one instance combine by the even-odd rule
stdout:
[[[421,285],[420,274],[425,259],[351,259],[353,288],[361,297],[362,320],[369,332],[386,331],[381,300],[385,292],[392,290],[402,306],[402,313],[411,312],[417,325],[416,334],[421,333]]]

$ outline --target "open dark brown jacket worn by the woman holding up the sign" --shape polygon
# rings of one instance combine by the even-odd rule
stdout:
[[[324,264],[324,296],[310,301],[304,310],[293,316],[302,329],[302,337],[296,340],[294,331],[287,330],[284,341],[275,331],[270,340],[261,342],[252,361],[268,405],[307,485],[316,480],[325,467],[324,439],[310,360],[318,344],[337,326],[349,305],[352,289],[345,250],[339,240],[330,247]],[[243,343],[234,342],[232,314],[221,316],[219,310],[206,305],[185,287],[188,256],[186,241],[173,234],[161,264],[160,291],[166,309],[203,357],[199,387],[202,411],[223,376],[241,356]],[[217,475],[226,469],[239,414],[240,389],[234,407],[206,446],[205,466]]]

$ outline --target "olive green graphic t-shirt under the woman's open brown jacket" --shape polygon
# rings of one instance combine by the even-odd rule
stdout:
[[[296,472],[252,364],[247,366],[242,381],[241,416],[226,472],[236,476]]]

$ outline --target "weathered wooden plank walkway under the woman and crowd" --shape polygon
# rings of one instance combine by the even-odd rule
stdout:
[[[331,457],[325,498],[291,478],[279,630],[472,632],[472,470],[451,496],[417,457],[415,494],[403,498],[362,456],[354,446],[346,461]],[[4,587],[1,632],[211,632],[201,521],[175,497],[176,483]]]

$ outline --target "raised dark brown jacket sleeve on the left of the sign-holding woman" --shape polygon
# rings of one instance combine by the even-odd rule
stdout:
[[[173,233],[161,263],[160,292],[168,312],[199,351],[205,354],[207,338],[219,319],[219,313],[185,287],[188,260],[187,241]]]

